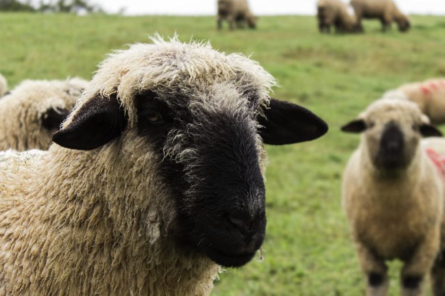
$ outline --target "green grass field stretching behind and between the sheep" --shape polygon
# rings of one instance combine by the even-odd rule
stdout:
[[[359,137],[340,126],[401,83],[445,76],[445,16],[412,16],[401,34],[364,23],[363,35],[320,35],[314,16],[261,17],[257,30],[216,30],[208,17],[0,14],[0,73],[22,79],[89,79],[113,49],[148,35],[211,40],[241,52],[281,84],[274,97],[301,104],[330,130],[309,143],[267,147],[264,260],[229,269],[214,296],[359,296],[364,281],[340,206],[343,168]],[[399,295],[400,262],[391,264],[390,295]],[[431,295],[429,288],[427,295]]]

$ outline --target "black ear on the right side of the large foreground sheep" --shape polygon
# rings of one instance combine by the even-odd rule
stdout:
[[[270,99],[264,114],[266,118],[259,115],[258,122],[263,126],[259,133],[265,144],[285,145],[310,141],[328,130],[326,122],[308,109],[277,99]]]

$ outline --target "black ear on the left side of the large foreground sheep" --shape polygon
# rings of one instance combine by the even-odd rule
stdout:
[[[73,115],[72,122],[52,136],[54,143],[70,149],[98,148],[118,137],[128,123],[116,95],[96,95]]]

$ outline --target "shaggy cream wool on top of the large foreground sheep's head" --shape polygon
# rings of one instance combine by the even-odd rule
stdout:
[[[209,42],[182,43],[177,37],[165,41],[159,36],[152,40],[153,44],[137,43],[128,50],[111,54],[100,64],[83,98],[88,100],[95,93],[109,96],[117,92],[133,126],[132,100],[145,90],[156,92],[159,99],[171,104],[179,98],[188,100],[189,104],[199,104],[221,98],[212,94],[216,90],[224,91],[230,81],[238,93],[252,93],[259,105],[265,105],[268,92],[277,85],[257,62],[241,54],[220,53]],[[223,97],[218,104],[239,104],[239,95]],[[183,106],[184,102],[179,104]],[[68,123],[69,120],[65,125]]]

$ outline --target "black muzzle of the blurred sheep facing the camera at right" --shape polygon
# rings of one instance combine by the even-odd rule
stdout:
[[[405,158],[403,134],[396,124],[389,123],[385,126],[380,139],[376,162],[382,168],[397,169],[408,164]]]

